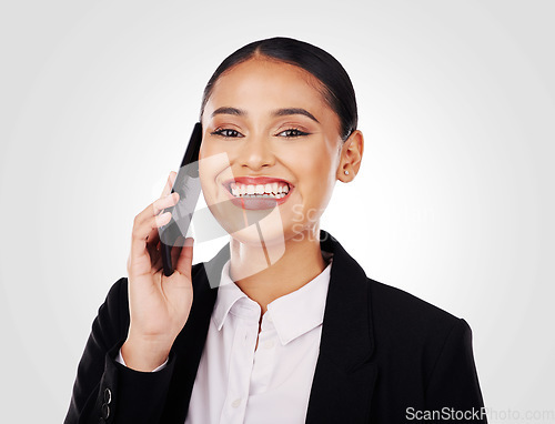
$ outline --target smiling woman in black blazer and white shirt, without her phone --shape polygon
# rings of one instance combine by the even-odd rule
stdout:
[[[163,275],[171,173],[134,220],[65,422],[485,422],[466,322],[366,277],[320,229],[363,154],[343,67],[297,40],[250,43],[209,81],[200,121],[203,194],[230,244],[192,265],[188,239]]]

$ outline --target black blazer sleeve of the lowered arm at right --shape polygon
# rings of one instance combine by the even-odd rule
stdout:
[[[472,330],[457,320],[447,335],[425,391],[426,410],[437,422],[487,423],[472,350]]]

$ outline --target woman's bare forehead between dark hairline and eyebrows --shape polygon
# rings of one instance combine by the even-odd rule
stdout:
[[[233,105],[262,111],[273,110],[276,105],[302,107],[326,117],[333,111],[322,92],[322,83],[304,69],[254,58],[231,68],[218,79],[206,108]]]

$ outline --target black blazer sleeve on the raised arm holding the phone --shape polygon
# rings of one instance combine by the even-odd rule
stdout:
[[[64,424],[158,423],[175,364],[139,372],[115,361],[129,330],[128,280],[117,281],[100,306],[79,362]]]

